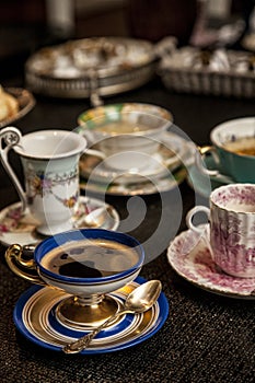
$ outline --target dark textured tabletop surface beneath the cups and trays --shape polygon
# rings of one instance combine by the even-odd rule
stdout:
[[[23,85],[22,79],[4,79],[4,86]],[[254,116],[253,100],[173,94],[159,79],[126,94],[105,97],[105,104],[146,102],[167,108],[175,124],[199,143],[209,142],[211,128],[230,118]],[[55,100],[36,95],[36,106],[15,126],[23,132],[43,128],[72,130],[78,115],[91,107],[88,100]],[[14,163],[21,172],[18,162]],[[0,208],[18,200],[0,169]],[[176,193],[182,204],[175,204]],[[96,196],[100,198],[101,196]],[[150,262],[141,276],[162,281],[170,312],[152,338],[132,348],[95,356],[66,356],[35,346],[16,332],[12,313],[30,283],[14,276],[0,258],[0,378],[2,382],[253,382],[255,373],[254,301],[230,299],[198,289],[177,276],[166,259],[174,235],[185,230],[185,214],[195,202],[184,181],[177,192],[138,197],[146,204],[144,220],[131,234],[141,243],[152,236],[162,217],[163,230],[146,246]],[[124,220],[130,197],[106,195]],[[164,201],[164,204],[162,204]],[[159,253],[159,254],[158,254]]]

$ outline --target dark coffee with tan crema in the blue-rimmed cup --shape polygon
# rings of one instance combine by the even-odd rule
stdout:
[[[66,277],[101,278],[128,270],[138,260],[135,248],[100,239],[60,245],[42,258],[42,266]]]

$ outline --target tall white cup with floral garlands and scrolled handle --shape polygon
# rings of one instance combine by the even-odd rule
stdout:
[[[86,140],[67,130],[38,130],[22,136],[14,127],[0,130],[1,162],[22,201],[24,213],[38,222],[37,231],[51,235],[72,229],[79,199],[79,158]],[[21,158],[25,192],[8,160],[13,149]]]

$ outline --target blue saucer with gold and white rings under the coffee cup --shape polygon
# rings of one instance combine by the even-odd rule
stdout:
[[[132,288],[136,288],[146,281],[147,280],[142,277],[137,277],[136,280],[129,285]],[[20,297],[13,311],[14,324],[19,332],[35,345],[54,351],[61,351],[65,344],[84,335],[84,332],[76,330],[73,328],[61,325],[54,314],[55,306],[61,299],[59,299],[57,303],[50,302],[49,299],[46,301],[46,303],[44,303],[45,305],[48,305],[48,307],[46,307],[47,310],[45,310],[45,312],[37,313],[37,316],[39,325],[42,325],[42,323],[45,321],[46,329],[44,330],[48,332],[47,336],[49,336],[51,340],[44,338],[42,334],[36,334],[37,329],[33,327],[33,321],[31,321],[32,317],[30,316],[30,312],[33,310],[33,306],[36,305],[36,294],[43,294],[44,291],[48,293],[57,293],[57,290],[33,286]],[[113,295],[115,299],[124,301],[127,293],[126,295],[123,295],[116,291],[113,293]],[[92,345],[93,343],[94,345],[86,348],[85,350],[82,350],[80,353],[96,355],[115,352],[136,346],[158,333],[165,323],[167,315],[169,302],[165,294],[161,292],[157,303],[152,306],[152,309],[143,314],[125,315],[120,322],[114,324],[112,327],[108,327],[105,330],[102,330],[92,341]],[[147,323],[147,325],[143,326],[143,329],[142,322]]]

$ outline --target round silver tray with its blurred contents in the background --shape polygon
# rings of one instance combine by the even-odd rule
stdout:
[[[113,95],[147,83],[155,72],[151,43],[121,37],[92,37],[45,47],[25,63],[27,88],[54,97]]]

